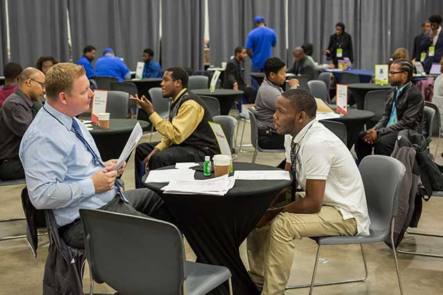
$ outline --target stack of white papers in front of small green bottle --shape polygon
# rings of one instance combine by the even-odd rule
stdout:
[[[181,169],[179,169],[180,171]],[[183,170],[184,171],[184,170]],[[235,178],[223,175],[208,180],[171,180],[161,190],[165,193],[178,193],[186,195],[224,196],[234,187]]]

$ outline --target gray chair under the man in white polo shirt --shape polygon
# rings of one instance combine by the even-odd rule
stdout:
[[[287,289],[296,289],[300,287],[310,287],[309,294],[312,294],[314,286],[335,285],[341,283],[361,282],[368,278],[368,265],[366,264],[363,244],[373,242],[383,242],[390,237],[390,242],[394,244],[393,229],[395,225],[395,216],[397,216],[397,203],[399,194],[399,184],[406,171],[399,160],[385,155],[368,155],[359,166],[363,186],[365,187],[366,202],[368,203],[368,213],[370,216],[369,236],[322,236],[313,238],[318,247],[314,264],[314,272],[311,278],[311,284],[288,286]],[[365,277],[351,280],[342,280],[338,282],[315,283],[318,267],[318,258],[320,257],[320,246],[323,245],[351,245],[360,244],[363,265],[365,267]],[[399,267],[397,262],[397,253],[394,254],[395,269],[399,281],[400,293],[403,294]]]

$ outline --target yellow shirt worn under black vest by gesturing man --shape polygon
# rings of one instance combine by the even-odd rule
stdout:
[[[173,102],[177,101],[181,95],[186,93],[184,88],[180,93],[174,97]],[[172,122],[164,120],[156,112],[150,115],[150,121],[154,124],[155,129],[159,131],[163,138],[156,148],[160,151],[168,149],[172,144],[181,144],[192,132],[197,129],[201,120],[203,120],[205,111],[204,108],[195,100],[188,100],[183,102],[179,108],[177,116],[172,119]]]

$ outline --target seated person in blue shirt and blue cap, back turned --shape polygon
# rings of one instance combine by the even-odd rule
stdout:
[[[131,79],[131,72],[125,61],[114,55],[114,50],[107,47],[103,50],[103,57],[96,61],[96,77],[116,77],[118,82]]]

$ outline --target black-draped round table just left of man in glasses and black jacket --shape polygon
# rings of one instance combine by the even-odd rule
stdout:
[[[374,113],[370,111],[358,110],[355,108],[348,108],[347,114],[343,117],[338,117],[334,119],[327,119],[331,121],[341,122],[346,126],[347,133],[347,149],[351,149],[354,145],[356,137],[362,131],[363,126],[368,122]]]

